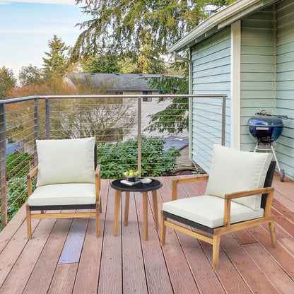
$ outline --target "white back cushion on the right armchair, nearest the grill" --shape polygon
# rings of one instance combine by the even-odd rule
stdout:
[[[271,153],[237,151],[214,145],[206,195],[224,197],[225,194],[264,187]],[[260,209],[261,195],[235,199],[254,210]]]

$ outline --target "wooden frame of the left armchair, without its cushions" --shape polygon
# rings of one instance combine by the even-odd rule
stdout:
[[[37,178],[37,167],[34,167],[28,175],[28,196],[32,194],[32,180]],[[100,181],[100,165],[95,169],[95,204],[78,204],[78,205],[57,205],[57,206],[29,206],[26,204],[28,239],[32,237],[31,219],[32,218],[88,218],[93,216],[97,223],[97,237],[100,237],[100,212],[102,211]],[[69,209],[95,209],[95,212],[78,212],[78,213],[44,213],[45,210],[69,210]],[[31,213],[31,211],[41,211],[40,213]]]

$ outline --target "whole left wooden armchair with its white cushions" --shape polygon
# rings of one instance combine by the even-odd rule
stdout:
[[[100,165],[95,137],[69,140],[36,140],[38,165],[28,173],[27,227],[31,218],[83,218],[93,216],[100,237]],[[32,191],[35,178],[36,189]],[[64,210],[95,209],[95,212]],[[61,213],[44,211],[61,210]],[[40,211],[31,213],[32,211]]]

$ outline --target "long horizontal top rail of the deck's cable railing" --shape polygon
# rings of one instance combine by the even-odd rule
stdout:
[[[34,99],[80,99],[80,98],[227,98],[228,95],[226,94],[136,94],[136,95],[39,95],[39,96],[28,96],[28,97],[20,97],[20,98],[11,98],[11,99],[4,99],[0,100],[0,105],[3,104],[10,104],[14,102],[23,102],[28,100]]]

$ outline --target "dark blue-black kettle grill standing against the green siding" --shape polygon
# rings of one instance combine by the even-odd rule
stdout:
[[[271,151],[274,154],[276,165],[280,172],[281,182],[283,182],[285,172],[281,170],[280,165],[278,165],[273,142],[282,134],[284,126],[282,119],[288,119],[288,117],[286,115],[274,115],[265,110],[261,110],[261,112],[257,112],[255,115],[255,117],[249,118],[247,122],[250,136],[257,141],[254,152]]]

